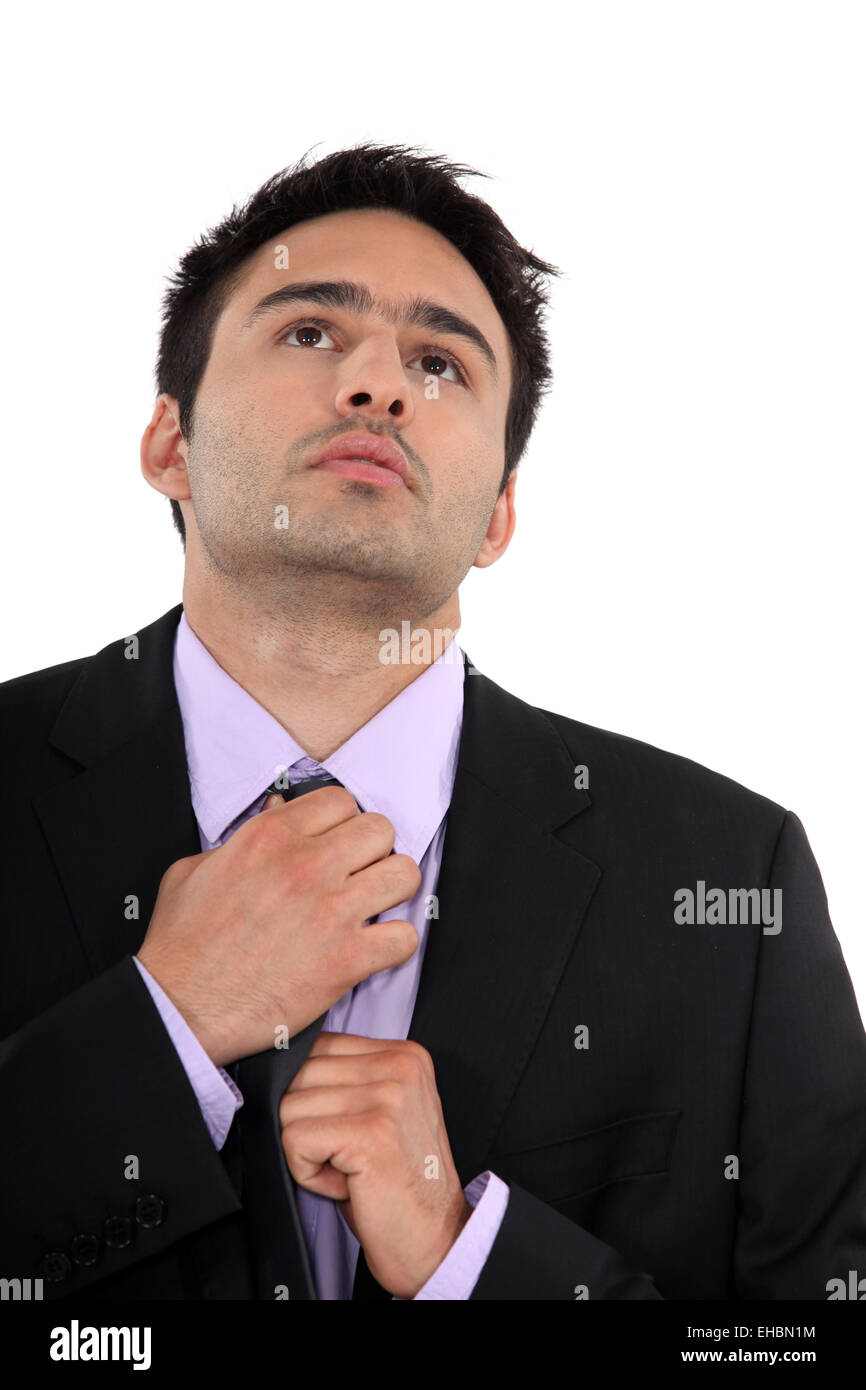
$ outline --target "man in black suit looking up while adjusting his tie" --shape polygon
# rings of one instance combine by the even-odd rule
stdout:
[[[302,163],[188,253],[142,441],[183,602],[3,687],[1,1259],[46,1297],[866,1270],[866,1038],[799,820],[453,641],[555,272],[459,172]]]

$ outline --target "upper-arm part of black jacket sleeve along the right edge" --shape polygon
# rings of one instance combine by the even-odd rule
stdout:
[[[866,1034],[819,867],[788,812],[770,870],[740,1137],[738,1298],[823,1298],[866,1270]]]

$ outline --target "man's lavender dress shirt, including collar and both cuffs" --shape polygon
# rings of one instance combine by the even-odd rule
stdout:
[[[202,849],[213,849],[264,806],[265,788],[288,769],[289,781],[320,770],[336,777],[361,810],[395,827],[395,852],[411,855],[421,885],[411,902],[377,922],[411,922],[418,949],[403,965],[361,980],[328,1011],[331,1033],[405,1038],[409,1033],[427,933],[435,930],[435,890],[463,721],[463,656],[452,639],[410,685],[322,763],[214,660],[181,614],[174,681],[183,720],[192,805]],[[135,962],[183,1063],[217,1148],[222,1148],[243,1097],[215,1068],[178,1009],[140,960]],[[473,1215],[416,1300],[468,1298],[502,1225],[509,1188],[480,1173],[464,1188]],[[297,1204],[320,1298],[350,1300],[359,1243],[336,1202],[297,1188]],[[398,1300],[395,1300],[398,1301]]]

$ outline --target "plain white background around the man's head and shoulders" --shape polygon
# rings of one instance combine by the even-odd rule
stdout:
[[[40,6],[7,21],[0,678],[181,598],[139,471],[164,275],[361,139],[566,272],[509,553],[460,644],[794,809],[866,1015],[859,3]],[[783,927],[784,930],[784,927]]]

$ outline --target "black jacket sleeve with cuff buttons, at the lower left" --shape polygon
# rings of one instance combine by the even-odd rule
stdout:
[[[44,1297],[240,1209],[132,956],[0,1044],[0,1265]]]

